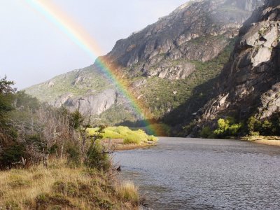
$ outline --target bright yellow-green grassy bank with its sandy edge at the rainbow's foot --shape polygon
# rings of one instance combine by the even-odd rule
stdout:
[[[96,134],[98,128],[87,129],[88,135]],[[106,127],[102,133],[103,144],[115,147],[116,150],[130,150],[153,146],[158,138],[146,134],[144,130],[130,130],[129,127]]]

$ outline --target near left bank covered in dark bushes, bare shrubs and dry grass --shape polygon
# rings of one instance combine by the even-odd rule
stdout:
[[[0,209],[137,209],[113,175],[104,126],[88,134],[78,111],[54,109],[0,79]]]

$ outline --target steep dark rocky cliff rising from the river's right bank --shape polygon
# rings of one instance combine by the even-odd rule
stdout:
[[[200,111],[200,123],[224,116],[262,120],[280,110],[280,1],[267,0],[239,31],[217,96]]]

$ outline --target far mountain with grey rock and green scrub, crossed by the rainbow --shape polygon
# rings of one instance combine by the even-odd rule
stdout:
[[[179,124],[173,113],[188,109],[192,105],[186,102],[193,98],[195,110],[207,102],[241,25],[261,5],[262,0],[188,1],[153,25],[117,41],[101,59],[127,80],[130,91],[146,104],[153,118]],[[140,119],[96,63],[26,92],[55,106],[92,113],[109,124]]]

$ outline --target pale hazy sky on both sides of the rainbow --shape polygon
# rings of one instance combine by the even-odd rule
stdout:
[[[109,52],[116,41],[168,15],[188,0],[49,0]],[[0,78],[19,89],[94,60],[25,0],[0,0]]]

